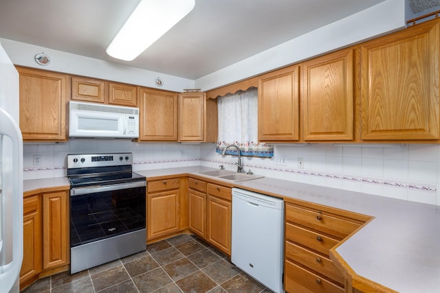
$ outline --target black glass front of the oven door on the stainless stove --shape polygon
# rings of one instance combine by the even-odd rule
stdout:
[[[70,197],[70,246],[146,228],[146,188]]]

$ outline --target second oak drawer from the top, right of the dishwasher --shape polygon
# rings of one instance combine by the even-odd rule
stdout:
[[[286,239],[292,242],[311,248],[324,255],[329,256],[329,249],[338,244],[337,239],[286,223]]]

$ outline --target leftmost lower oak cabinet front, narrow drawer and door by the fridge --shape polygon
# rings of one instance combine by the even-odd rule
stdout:
[[[41,202],[39,196],[23,200],[23,263],[20,284],[41,272]]]

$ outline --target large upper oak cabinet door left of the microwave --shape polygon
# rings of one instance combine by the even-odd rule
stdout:
[[[24,141],[66,141],[67,75],[17,67]]]

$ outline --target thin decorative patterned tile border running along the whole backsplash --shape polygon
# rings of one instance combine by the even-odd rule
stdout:
[[[205,161],[210,163],[219,163],[219,164],[230,164],[233,163],[226,162],[226,161],[219,161],[219,160],[209,160],[209,159],[173,159],[173,160],[157,160],[157,161],[138,161],[133,162],[133,165],[142,165],[142,164],[157,164],[157,163],[182,163],[182,162],[195,162],[195,161]],[[397,180],[386,180],[386,179],[378,179],[378,178],[369,178],[364,176],[351,176],[347,174],[331,174],[327,172],[317,172],[313,170],[305,170],[305,169],[290,169],[286,167],[272,167],[267,165],[252,165],[252,164],[246,164],[246,168],[253,168],[253,169],[265,169],[269,171],[274,172],[286,172],[291,174],[299,174],[299,175],[305,175],[305,176],[318,176],[322,178],[333,178],[333,179],[340,179],[340,180],[349,180],[353,182],[361,182],[361,183],[370,183],[374,185],[384,185],[384,186],[390,186],[390,187],[401,187],[401,188],[408,188],[408,189],[414,189],[418,191],[429,191],[429,192],[437,192],[437,186],[436,185],[427,185],[427,184],[421,184],[421,183],[410,183],[410,182],[401,182]],[[54,170],[60,170],[60,169],[67,169],[65,166],[33,166],[33,167],[25,167],[23,168],[23,172],[39,172],[39,171],[54,171]]]

